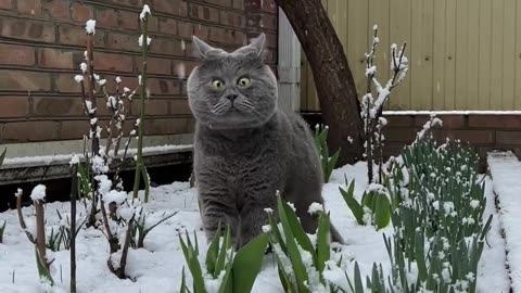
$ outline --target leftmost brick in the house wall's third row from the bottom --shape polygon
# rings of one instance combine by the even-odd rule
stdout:
[[[49,91],[49,73],[26,71],[0,71],[0,91]]]

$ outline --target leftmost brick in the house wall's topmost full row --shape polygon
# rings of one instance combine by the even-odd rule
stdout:
[[[2,37],[54,42],[54,25],[52,23],[28,20],[0,18],[0,35]]]

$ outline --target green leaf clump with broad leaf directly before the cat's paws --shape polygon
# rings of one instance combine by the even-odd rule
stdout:
[[[182,268],[180,292],[251,292],[255,279],[260,271],[269,235],[262,233],[254,238],[237,253],[231,243],[230,227],[220,234],[220,224],[217,233],[208,245],[204,264],[200,263],[198,237],[194,232],[194,244],[186,232],[186,242],[179,234],[182,253],[192,276],[193,288],[190,291],[186,284],[185,267]]]

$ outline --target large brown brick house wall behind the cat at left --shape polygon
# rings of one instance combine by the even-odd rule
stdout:
[[[186,97],[186,76],[195,65],[192,35],[231,50],[266,31],[267,61],[276,68],[272,0],[0,0],[0,143],[78,139],[86,133],[88,122],[73,77],[82,61],[89,18],[97,20],[97,72],[109,80],[118,75],[124,86],[135,87],[143,2],[153,14],[148,135],[192,131]],[[181,64],[185,76],[179,75]],[[99,104],[105,104],[103,99]],[[109,112],[103,109],[99,115],[106,124]]]

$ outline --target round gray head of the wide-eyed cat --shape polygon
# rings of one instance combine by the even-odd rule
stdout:
[[[190,109],[214,129],[253,128],[267,123],[277,107],[277,79],[266,64],[266,36],[234,52],[193,37],[200,60],[188,77]]]

